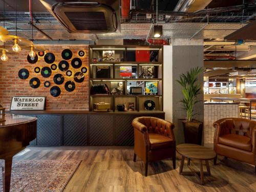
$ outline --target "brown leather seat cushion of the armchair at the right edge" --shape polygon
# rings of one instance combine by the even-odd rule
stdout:
[[[226,134],[219,137],[219,143],[241,150],[251,151],[251,139],[237,134]]]

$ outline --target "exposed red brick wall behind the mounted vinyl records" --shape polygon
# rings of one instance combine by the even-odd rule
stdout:
[[[84,57],[79,57],[82,60],[82,67],[88,68],[89,53],[88,46],[45,46],[48,49],[46,52],[54,53],[56,59],[55,64],[58,66],[61,57],[61,51],[63,49],[70,49],[73,52],[73,57],[79,57],[78,51],[84,50],[86,55]],[[75,72],[80,69],[74,69],[71,67],[71,60],[68,60],[70,64],[69,70],[72,71],[72,76],[68,77],[66,72],[62,72],[59,69],[52,71],[52,75],[49,78],[42,77],[40,73],[35,73],[35,67],[50,67],[51,64],[45,62],[44,57],[38,56],[38,61],[35,64],[31,64],[27,61],[27,55],[29,51],[23,50],[17,54],[8,54],[9,60],[3,62],[0,60],[0,103],[9,110],[11,104],[12,96],[46,96],[46,110],[89,110],[89,82],[88,82],[88,72],[85,74],[85,79],[82,83],[77,83],[74,81],[73,76]],[[18,71],[22,68],[29,70],[29,78],[23,80],[18,77]],[[76,84],[76,89],[73,92],[68,92],[65,90],[64,83],[61,85],[56,85],[53,82],[53,76],[57,73],[62,74],[65,77],[65,82],[72,80]],[[29,86],[29,80],[32,77],[37,77],[40,79],[40,87],[37,89],[32,89]],[[46,88],[44,82],[48,80],[51,82],[51,86]],[[50,88],[52,86],[58,86],[61,89],[61,94],[58,97],[53,97],[50,94]]]

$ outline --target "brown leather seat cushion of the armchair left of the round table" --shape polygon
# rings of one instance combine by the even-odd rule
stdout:
[[[173,139],[156,133],[148,133],[148,137],[150,139],[151,150],[172,147],[174,143]]]

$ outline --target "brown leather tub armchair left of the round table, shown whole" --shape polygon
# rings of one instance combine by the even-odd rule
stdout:
[[[155,117],[138,117],[132,122],[134,127],[134,162],[138,155],[145,164],[147,176],[148,162],[166,158],[173,159],[176,167],[176,143],[174,125]]]

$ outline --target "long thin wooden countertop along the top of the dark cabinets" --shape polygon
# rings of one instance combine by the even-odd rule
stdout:
[[[7,111],[7,113],[12,114],[19,114],[19,115],[94,115],[94,114],[101,114],[101,115],[132,115],[132,114],[164,114],[163,111],[129,111],[129,112],[93,112],[87,110],[45,110],[45,111]]]

